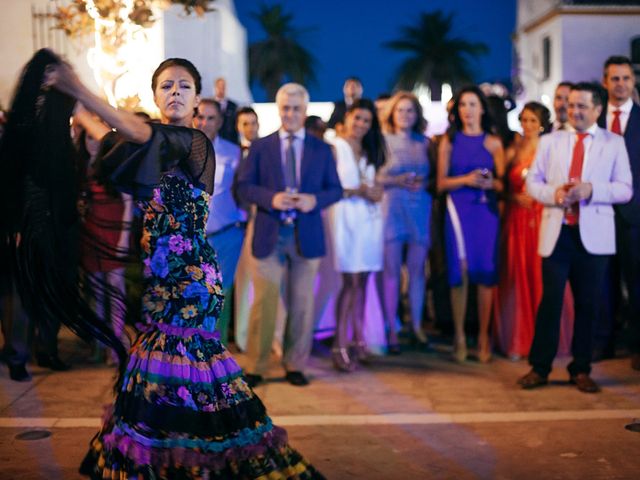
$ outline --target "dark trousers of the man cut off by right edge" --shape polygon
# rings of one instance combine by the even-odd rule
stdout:
[[[616,220],[617,257],[628,294],[629,350],[640,353],[640,226]]]

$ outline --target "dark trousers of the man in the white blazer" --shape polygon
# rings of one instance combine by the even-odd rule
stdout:
[[[598,318],[608,255],[587,252],[577,227],[562,226],[553,253],[542,259],[542,300],[529,353],[533,370],[546,377],[558,351],[560,315],[567,280],[573,292],[575,321],[570,375],[591,371],[593,328]]]

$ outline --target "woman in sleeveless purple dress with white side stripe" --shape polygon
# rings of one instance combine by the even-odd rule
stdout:
[[[467,357],[464,319],[469,283],[478,287],[478,359],[491,359],[489,323],[492,287],[497,283],[499,212],[504,153],[491,134],[487,102],[475,86],[462,89],[452,109],[454,122],[438,151],[438,190],[447,192],[445,249],[455,326],[454,356]]]

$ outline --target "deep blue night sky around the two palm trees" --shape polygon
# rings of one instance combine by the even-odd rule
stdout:
[[[307,85],[312,101],[340,98],[343,80],[351,75],[362,79],[365,96],[391,90],[403,54],[381,44],[397,38],[401,26],[415,24],[421,12],[438,9],[455,13],[454,34],[489,46],[477,62],[478,82],[510,77],[516,0],[236,0],[249,43],[265,37],[252,17],[261,3],[282,4],[294,15],[293,25],[305,30],[300,43],[317,61],[316,83]],[[252,93],[255,101],[266,100],[255,85]]]

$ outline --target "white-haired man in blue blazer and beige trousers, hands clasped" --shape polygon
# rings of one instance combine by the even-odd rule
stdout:
[[[268,367],[285,269],[290,285],[283,346],[286,379],[297,386],[309,383],[304,369],[313,341],[314,280],[325,254],[320,213],[342,197],[342,187],[329,146],[305,132],[308,103],[302,85],[283,85],[276,94],[281,128],[252,143],[238,171],[237,196],[257,206],[246,368],[252,387]]]

